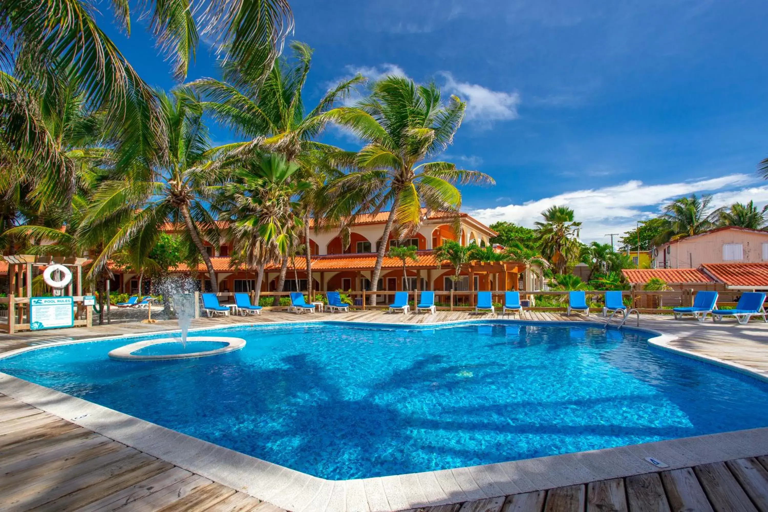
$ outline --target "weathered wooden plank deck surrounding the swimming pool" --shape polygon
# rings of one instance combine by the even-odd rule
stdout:
[[[284,312],[265,312],[261,317],[199,319],[194,328],[246,322],[295,322],[297,319],[334,319],[356,322],[432,323],[477,319],[465,312],[438,315],[387,315],[381,312],[316,314],[298,317]],[[487,318],[487,317],[486,317]],[[553,313],[527,312],[525,319],[581,321]],[[634,324],[634,319],[633,319]],[[708,357],[737,362],[768,375],[768,325],[735,322],[713,325],[711,321],[675,322],[667,317],[641,316],[641,327],[656,329],[680,338],[670,345]],[[28,345],[65,339],[106,335],[136,335],[177,329],[176,322],[118,324],[93,329],[65,329],[0,336],[0,352]],[[42,407],[42,406],[41,406]],[[768,512],[768,445],[764,453],[733,457],[708,464],[677,467],[671,471],[624,474],[609,480],[581,484],[541,486],[539,490],[508,494],[498,487],[457,478],[461,496],[455,504],[412,507],[413,503],[373,500],[373,494],[353,497],[346,491],[333,510],[377,512],[422,510],[423,512]],[[720,457],[722,458],[722,457]],[[713,460],[717,457],[713,457]],[[645,464],[645,463],[643,463]],[[650,467],[650,464],[649,464]],[[409,475],[412,476],[412,475]],[[402,477],[402,484],[406,482]],[[415,481],[424,496],[434,492],[428,482]],[[438,484],[438,482],[434,482]],[[345,487],[346,488],[346,487]],[[498,492],[492,491],[496,488]],[[489,490],[491,489],[491,490]],[[375,494],[375,493],[374,493]],[[335,494],[331,494],[336,499]],[[330,510],[329,500],[317,491],[317,500],[290,510]],[[366,496],[368,496],[366,500]],[[131,448],[126,444],[74,424],[57,415],[0,395],[0,510],[283,510],[257,500],[243,491],[227,487],[182,467]]]

